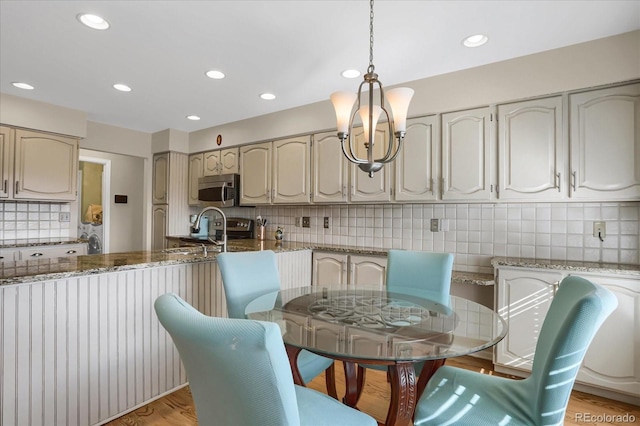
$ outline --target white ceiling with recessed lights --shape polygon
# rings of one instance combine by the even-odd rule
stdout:
[[[640,29],[638,0],[378,0],[374,11],[385,87]],[[111,28],[84,27],[81,12]],[[90,121],[191,132],[355,91],[361,78],[340,72],[366,71],[368,27],[363,0],[0,0],[0,91],[82,110]],[[489,43],[462,47],[475,33]],[[210,69],[227,78],[207,78]],[[277,98],[263,101],[262,92]]]

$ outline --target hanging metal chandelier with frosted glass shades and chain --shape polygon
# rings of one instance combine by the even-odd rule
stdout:
[[[358,93],[353,92],[335,92],[331,94],[331,102],[336,110],[336,119],[338,122],[338,138],[342,145],[342,152],[349,161],[357,164],[358,167],[373,177],[373,174],[386,164],[393,161],[400,149],[402,141],[407,131],[407,110],[409,102],[413,96],[413,89],[408,87],[398,87],[389,90],[386,99],[391,108],[391,115],[385,107],[385,93],[382,89],[382,83],[378,80],[378,74],[375,73],[373,65],[373,0],[369,3],[369,67],[364,75],[364,81],[358,87]],[[364,95],[363,102],[362,88],[367,85],[369,93]],[[375,102],[374,89],[378,87],[379,99]],[[354,105],[355,104],[355,105]],[[376,126],[381,114],[383,120],[386,116],[387,125],[389,126],[389,140],[384,155],[380,158],[374,158],[374,147],[376,137]],[[362,128],[364,131],[364,146],[366,150],[366,158],[360,158],[356,152],[355,138],[353,136],[353,124],[356,115],[360,116]],[[395,143],[397,139],[397,143]]]

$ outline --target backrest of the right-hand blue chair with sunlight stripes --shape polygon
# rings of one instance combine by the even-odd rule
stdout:
[[[617,306],[616,296],[602,286],[578,276],[562,280],[542,324],[531,376],[526,379],[536,394],[535,424],[562,424],[589,344]]]

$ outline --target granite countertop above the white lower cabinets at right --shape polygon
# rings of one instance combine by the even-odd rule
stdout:
[[[530,269],[553,269],[573,272],[596,272],[640,277],[640,265],[619,263],[580,262],[570,260],[528,259],[519,257],[494,257],[491,260],[494,268],[510,266]]]

